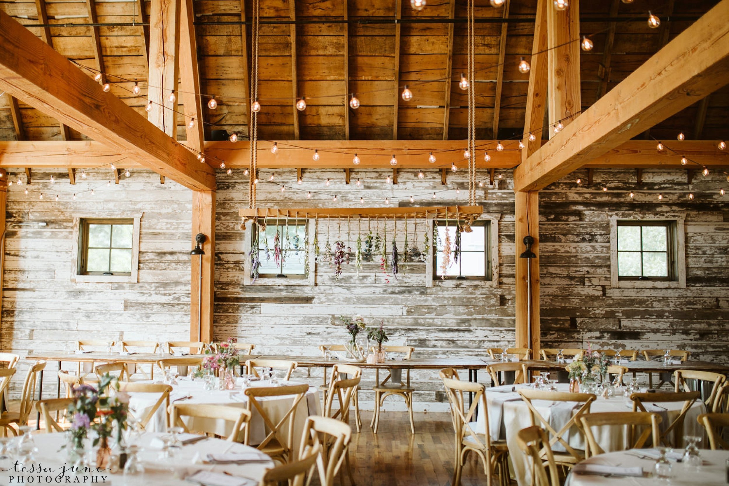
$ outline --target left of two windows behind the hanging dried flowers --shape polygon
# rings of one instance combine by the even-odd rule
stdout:
[[[254,228],[258,238],[259,277],[303,279],[306,273],[306,224],[266,220],[266,229]],[[254,225],[255,226],[255,225]],[[278,235],[278,236],[277,236]],[[276,243],[278,241],[278,244]],[[276,246],[281,258],[276,258]]]

